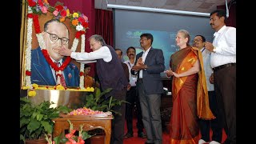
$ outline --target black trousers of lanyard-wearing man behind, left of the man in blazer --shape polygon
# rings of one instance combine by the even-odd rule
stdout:
[[[127,125],[127,132],[130,134],[134,134],[133,131],[133,111],[136,109],[136,116],[137,116],[137,128],[138,133],[143,131],[143,122],[142,122],[142,110],[138,99],[138,90],[136,86],[131,86],[130,90],[127,91],[126,94],[126,125]]]

